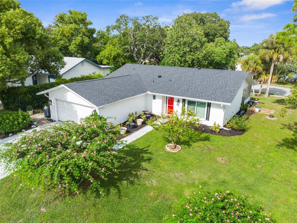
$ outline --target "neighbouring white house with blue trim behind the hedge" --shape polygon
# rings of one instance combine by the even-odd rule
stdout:
[[[79,57],[64,57],[66,63],[65,67],[60,70],[63,78],[69,79],[72,77],[79,77],[88,75],[89,73],[99,72],[102,75],[109,74],[109,69],[112,66],[97,65],[86,58]],[[44,84],[56,80],[55,75],[50,75],[47,72],[34,73],[26,78],[25,86]]]

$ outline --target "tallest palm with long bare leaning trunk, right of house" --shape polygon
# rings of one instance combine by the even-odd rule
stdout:
[[[263,43],[263,49],[259,51],[260,59],[271,62],[270,75],[267,82],[267,89],[265,92],[265,97],[268,97],[269,87],[271,83],[272,73],[274,69],[275,62],[288,62],[292,54],[292,49],[286,46],[287,37],[283,35],[273,35],[271,34],[267,40]]]

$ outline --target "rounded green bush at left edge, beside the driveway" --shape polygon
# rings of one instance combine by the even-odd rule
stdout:
[[[12,112],[0,117],[0,132],[4,134],[20,131],[23,128],[27,128],[30,121],[30,115],[19,109],[18,112]]]

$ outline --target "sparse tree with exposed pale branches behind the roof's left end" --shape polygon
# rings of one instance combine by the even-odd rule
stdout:
[[[119,33],[125,51],[131,54],[138,64],[145,64],[147,61],[159,63],[155,55],[162,52],[165,31],[158,19],[152,15],[143,16],[141,20],[138,17],[120,15],[112,26]]]

